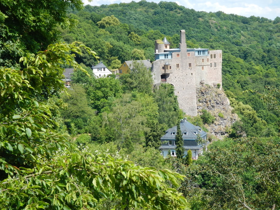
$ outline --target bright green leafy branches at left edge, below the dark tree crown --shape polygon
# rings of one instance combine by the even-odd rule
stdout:
[[[71,63],[79,68],[74,55],[68,52],[80,53],[83,47],[95,55],[79,43],[56,44],[36,56],[21,58],[26,66],[21,70],[0,69],[2,178],[12,176],[21,166],[32,166],[36,162],[33,153],[50,156],[63,146],[65,135],[54,130],[59,125],[47,99],[64,89],[64,69],[59,64]]]

